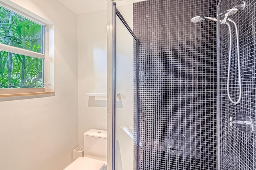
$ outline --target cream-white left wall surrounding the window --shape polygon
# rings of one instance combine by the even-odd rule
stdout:
[[[62,170],[78,145],[76,15],[57,0],[12,0],[54,23],[55,96],[0,102],[0,169]]]

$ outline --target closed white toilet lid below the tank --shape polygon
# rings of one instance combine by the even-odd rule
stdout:
[[[92,158],[79,157],[64,170],[104,170],[105,162]]]

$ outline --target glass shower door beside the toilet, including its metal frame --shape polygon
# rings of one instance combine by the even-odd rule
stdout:
[[[112,5],[112,7],[111,7]],[[113,18],[108,18],[108,168],[134,169],[136,156],[136,36],[132,32],[132,3],[108,3]],[[110,12],[110,10],[109,10]],[[128,21],[128,22],[126,22]],[[111,30],[112,29],[112,30]],[[111,42],[112,41],[112,42]],[[112,49],[112,51],[110,51]],[[112,81],[110,81],[112,80]],[[111,121],[112,122],[111,122]],[[111,122],[111,123],[110,123]],[[112,133],[110,132],[112,130]],[[111,150],[110,150],[111,149]],[[110,161],[111,160],[111,161]]]

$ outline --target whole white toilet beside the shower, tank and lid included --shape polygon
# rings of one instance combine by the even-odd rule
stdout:
[[[84,133],[84,157],[77,158],[64,170],[106,170],[107,131],[90,129]]]

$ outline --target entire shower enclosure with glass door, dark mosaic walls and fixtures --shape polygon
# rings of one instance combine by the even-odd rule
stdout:
[[[243,3],[107,0],[108,170],[256,169],[256,1]]]

